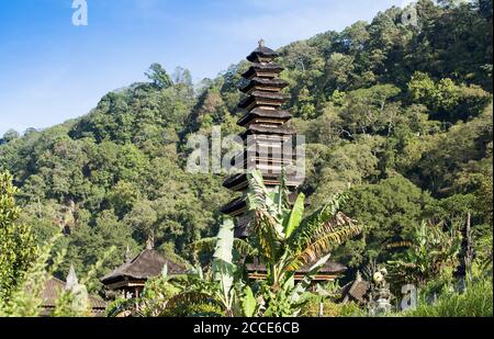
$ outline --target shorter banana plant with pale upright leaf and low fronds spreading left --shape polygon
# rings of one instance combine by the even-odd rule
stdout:
[[[149,281],[139,300],[112,305],[110,316],[228,316],[252,317],[259,307],[252,290],[242,281],[242,270],[234,257],[237,250],[252,252],[247,244],[234,239],[234,223],[225,218],[216,237],[192,245],[211,249],[214,255],[210,272],[201,267],[182,276],[168,276]],[[164,270],[166,271],[166,270]],[[215,309],[204,314],[201,309]],[[195,309],[195,310],[191,310]]]

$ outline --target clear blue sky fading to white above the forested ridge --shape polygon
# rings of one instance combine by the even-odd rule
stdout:
[[[88,113],[106,92],[144,80],[151,63],[188,68],[195,81],[244,58],[407,0],[0,0],[0,136]]]

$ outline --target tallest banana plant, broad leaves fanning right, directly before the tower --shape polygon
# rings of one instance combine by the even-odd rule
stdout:
[[[339,212],[338,199],[304,217],[305,195],[299,194],[290,207],[284,174],[272,192],[259,171],[249,172],[247,178],[250,241],[267,268],[267,280],[260,289],[265,295],[263,315],[296,315],[300,305],[311,297],[307,287],[329,259],[329,251],[360,234],[361,227]],[[305,278],[295,284],[296,271],[314,261]]]

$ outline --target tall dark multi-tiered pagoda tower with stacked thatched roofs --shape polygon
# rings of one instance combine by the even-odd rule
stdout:
[[[247,57],[252,65],[243,74],[245,83],[240,91],[246,97],[238,104],[243,115],[237,124],[246,128],[240,134],[245,148],[234,159],[236,163],[243,163],[243,172],[227,178],[223,183],[225,188],[242,193],[242,196],[222,208],[223,213],[237,217],[235,236],[240,238],[248,235],[249,223],[246,214],[246,172],[260,170],[266,187],[273,189],[281,183],[282,169],[293,168],[295,161],[291,146],[295,131],[287,126],[290,113],[281,110],[287,99],[281,91],[288,83],[278,78],[283,69],[274,64],[277,57],[278,54],[260,41],[259,47]],[[287,151],[289,148],[291,151]],[[287,173],[289,189],[295,189],[301,183],[296,173]]]

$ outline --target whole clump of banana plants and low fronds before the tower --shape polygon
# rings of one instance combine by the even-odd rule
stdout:
[[[284,185],[270,193],[259,171],[249,173],[248,181],[252,235],[246,242],[239,240],[235,245],[234,223],[225,218],[214,238],[211,272],[203,273],[199,268],[187,276],[164,275],[148,283],[141,298],[112,305],[109,315],[295,316],[316,297],[308,287],[328,260],[328,251],[359,234],[360,227],[338,213],[336,203],[303,218],[303,194],[290,208]],[[260,238],[270,239],[271,244],[260,244]],[[211,240],[199,241],[194,247],[205,247]],[[265,281],[245,279],[244,262],[252,255],[266,260]],[[314,259],[317,262],[295,283],[296,270]],[[156,290],[157,283],[160,287]]]

